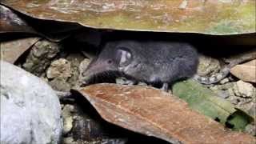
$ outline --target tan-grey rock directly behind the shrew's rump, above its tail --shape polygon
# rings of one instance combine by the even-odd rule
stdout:
[[[199,57],[198,75],[207,76],[217,73],[221,69],[217,59],[201,55]]]

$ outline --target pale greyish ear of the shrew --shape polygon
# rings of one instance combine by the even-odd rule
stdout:
[[[118,49],[117,58],[118,58],[118,67],[128,66],[132,60],[130,50]]]

